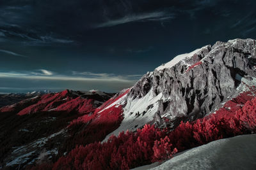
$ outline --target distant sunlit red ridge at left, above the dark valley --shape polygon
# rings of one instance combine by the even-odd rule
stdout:
[[[76,111],[79,114],[90,113],[100,106],[111,94],[104,92],[75,92],[64,90],[60,93],[49,93],[35,96],[10,106],[4,106],[0,112],[17,112],[17,115],[27,115],[39,111]]]

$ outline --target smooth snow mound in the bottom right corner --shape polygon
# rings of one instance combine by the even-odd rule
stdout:
[[[163,169],[256,169],[256,134],[212,141],[167,160],[133,170]],[[153,167],[152,166],[156,166]]]

